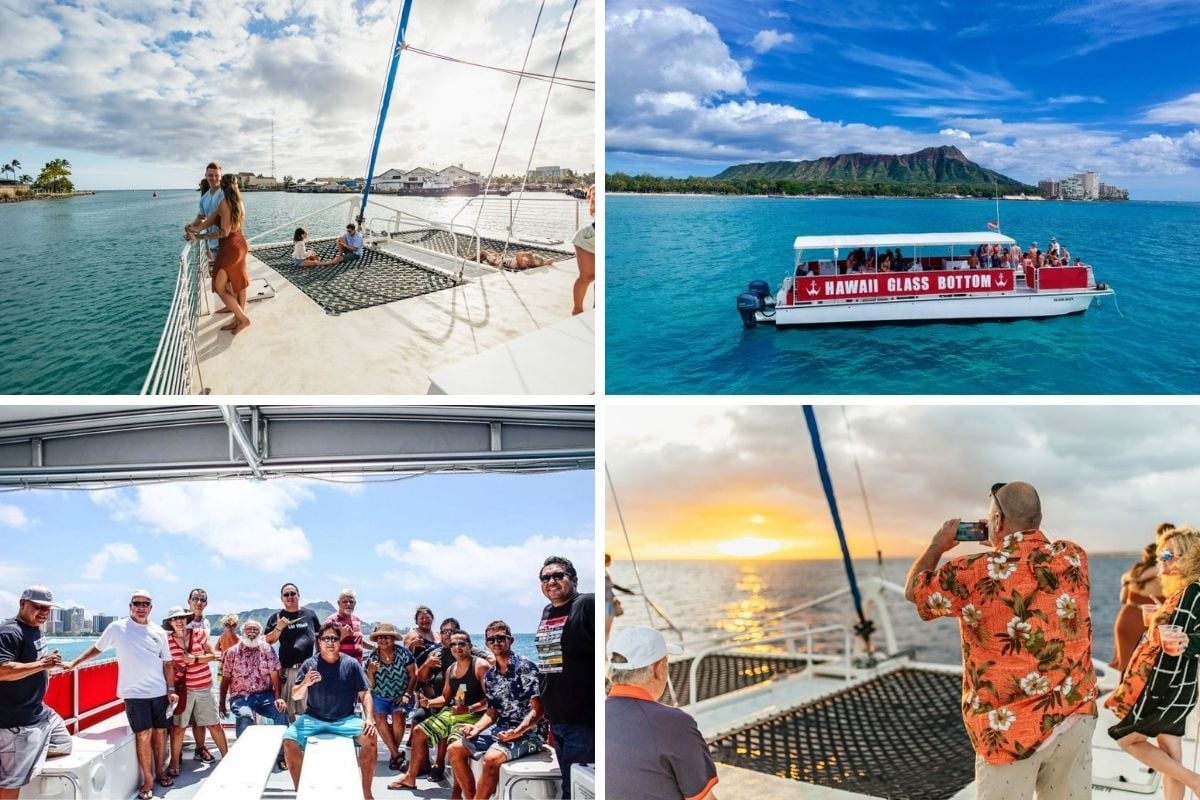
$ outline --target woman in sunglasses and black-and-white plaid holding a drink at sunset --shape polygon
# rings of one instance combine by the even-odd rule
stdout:
[[[1169,597],[1134,650],[1121,686],[1104,704],[1120,718],[1109,735],[1163,776],[1165,796],[1180,798],[1187,789],[1200,793],[1200,774],[1181,760],[1200,672],[1200,530],[1170,531],[1158,548],[1158,561]]]

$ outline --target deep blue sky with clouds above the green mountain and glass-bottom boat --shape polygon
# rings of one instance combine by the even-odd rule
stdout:
[[[613,0],[605,28],[610,173],[953,144],[1200,200],[1195,0]]]

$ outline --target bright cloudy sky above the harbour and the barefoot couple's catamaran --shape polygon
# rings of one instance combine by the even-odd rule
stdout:
[[[194,188],[204,164],[278,178],[361,175],[397,0],[226,4],[4,0],[0,163],[66,158],[78,188]],[[554,70],[571,0],[547,0],[527,68]],[[414,0],[414,47],[520,68],[539,4]],[[558,74],[595,78],[595,6],[570,22]],[[402,54],[377,172],[462,163],[520,174],[595,162],[595,94]],[[18,174],[20,174],[18,173]]]

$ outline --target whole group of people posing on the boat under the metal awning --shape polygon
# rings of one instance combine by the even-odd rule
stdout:
[[[404,632],[383,622],[367,633],[354,613],[352,589],[343,589],[337,610],[320,620],[300,604],[296,584],[286,583],[282,608],[266,620],[265,634],[254,619],[241,622],[239,632],[238,618],[228,615],[216,646],[210,644],[203,589],[192,590],[188,609],[170,608],[162,627],[151,620],[150,593],[136,590],[128,616],[64,663],[58,652],[46,651],[41,631],[52,593],[31,587],[17,616],[0,624],[0,798],[16,796],[47,757],[71,750],[62,720],[43,704],[49,672],[76,669],[109,648],[116,650],[118,696],[136,736],[140,800],[152,796],[156,781],[173,786],[190,724],[196,760],[215,760],[206,736],[223,757],[229,745],[221,717],[230,710],[239,735],[257,716],[287,726],[277,766],[296,786],[308,739],[328,733],[359,746],[364,798],[372,796],[380,740],[389,769],[404,772],[388,788],[414,789],[434,747],[430,778],[444,780],[449,760],[454,798],[490,798],[505,762],[550,744],[568,798],[571,766],[595,760],[595,602],[594,595],[578,591],[575,566],[564,557],[547,558],[538,577],[548,603],[538,626],[536,660],[512,650],[512,630],[504,620],[486,626],[486,650],[454,618],[443,619],[434,632],[434,614],[426,606],[416,608]],[[217,698],[214,661],[220,667]],[[409,723],[412,757],[406,764]],[[472,758],[481,759],[478,783]]]

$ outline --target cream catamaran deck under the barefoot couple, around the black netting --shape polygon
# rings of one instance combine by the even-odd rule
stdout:
[[[433,267],[437,281],[456,277],[461,266],[402,241],[380,242],[378,249]],[[251,254],[252,290],[265,281],[275,296],[252,300],[252,325],[234,337],[220,330],[230,317],[215,313],[222,303],[208,295],[197,330],[200,385],[214,395],[522,393],[522,387],[528,393],[590,395],[594,318],[572,320],[578,266],[574,257],[560,257],[553,265],[520,272],[468,264],[461,284],[445,279],[445,288],[426,294],[334,314]],[[301,279],[320,281],[323,272],[332,277],[331,271],[342,269],[305,270]],[[352,282],[354,269],[344,269]],[[536,333],[536,359],[510,355],[520,353],[514,348],[523,337]],[[490,353],[478,366],[467,363],[470,381],[460,377],[448,391],[431,379]]]

